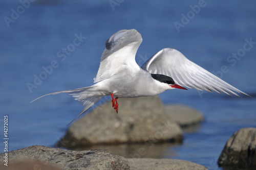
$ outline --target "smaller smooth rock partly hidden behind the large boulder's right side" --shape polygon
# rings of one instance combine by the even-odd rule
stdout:
[[[184,105],[165,106],[167,114],[181,127],[198,124],[204,120],[204,116],[198,110]]]

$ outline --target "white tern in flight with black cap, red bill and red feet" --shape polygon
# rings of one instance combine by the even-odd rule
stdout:
[[[173,48],[162,49],[140,67],[135,61],[135,55],[141,42],[141,34],[135,29],[118,31],[106,41],[94,85],[49,94],[69,93],[75,97],[84,106],[77,117],[105,95],[112,96],[112,107],[116,112],[118,98],[152,96],[174,88],[186,89],[182,86],[228,95],[239,96],[236,92],[248,95],[191,62]]]

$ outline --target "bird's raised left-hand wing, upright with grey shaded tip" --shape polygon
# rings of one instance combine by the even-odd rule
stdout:
[[[106,41],[106,48],[101,56],[99,70],[94,83],[108,79],[119,70],[139,70],[135,55],[142,42],[140,33],[135,30],[120,30]]]

